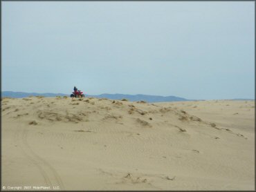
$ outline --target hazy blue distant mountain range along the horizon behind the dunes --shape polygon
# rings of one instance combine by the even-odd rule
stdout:
[[[24,93],[24,92],[13,92],[13,91],[2,91],[1,97],[12,97],[12,98],[23,98],[29,96],[44,96],[44,97],[56,97],[56,96],[67,96],[68,94],[63,93]],[[101,95],[85,95],[86,97],[96,98],[107,98],[107,99],[128,99],[131,102],[145,101],[149,103],[156,102],[182,102],[182,101],[195,101],[195,99],[185,99],[182,97],[175,96],[158,96],[158,95],[124,95],[124,94],[101,94]],[[232,100],[255,100],[255,99],[232,99]]]

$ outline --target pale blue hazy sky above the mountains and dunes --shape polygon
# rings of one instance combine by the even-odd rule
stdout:
[[[2,1],[2,91],[255,98],[254,1]]]

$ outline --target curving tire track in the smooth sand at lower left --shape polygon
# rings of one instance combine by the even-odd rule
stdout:
[[[19,128],[18,128],[19,129]],[[30,162],[33,162],[35,166],[37,166],[37,169],[39,169],[39,172],[44,177],[44,182],[46,186],[51,186],[53,189],[53,186],[60,186],[61,190],[64,190],[64,184],[60,178],[60,175],[58,175],[57,171],[44,160],[42,157],[39,157],[32,148],[30,148],[28,144],[28,129],[24,128],[24,130],[20,130],[16,132],[16,139],[19,141],[22,151],[24,152],[24,155],[30,160]]]

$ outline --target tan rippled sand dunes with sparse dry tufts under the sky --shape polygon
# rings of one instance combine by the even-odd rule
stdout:
[[[3,98],[1,113],[2,189],[255,189],[255,101]]]

